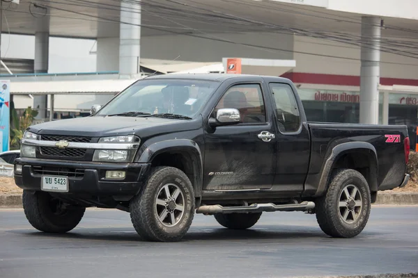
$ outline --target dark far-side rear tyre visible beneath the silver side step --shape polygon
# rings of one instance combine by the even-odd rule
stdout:
[[[222,226],[243,230],[253,227],[260,219],[261,213],[215,213],[215,219]]]

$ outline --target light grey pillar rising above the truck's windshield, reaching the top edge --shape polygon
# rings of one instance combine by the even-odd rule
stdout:
[[[121,1],[119,38],[119,74],[129,77],[139,74],[141,40],[141,1]]]

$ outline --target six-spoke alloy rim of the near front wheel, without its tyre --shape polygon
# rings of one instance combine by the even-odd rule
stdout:
[[[165,184],[157,194],[155,209],[158,220],[164,226],[176,226],[183,218],[185,211],[183,191],[174,183]]]

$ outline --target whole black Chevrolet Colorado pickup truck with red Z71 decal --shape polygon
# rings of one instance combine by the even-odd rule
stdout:
[[[357,236],[379,190],[403,187],[406,126],[310,123],[274,76],[141,79],[88,117],[30,126],[15,162],[29,223],[74,229],[87,207],[130,213],[144,240],[177,241],[194,213],[247,229],[263,212],[315,213]]]

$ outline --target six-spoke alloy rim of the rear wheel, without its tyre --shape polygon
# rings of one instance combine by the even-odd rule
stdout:
[[[362,194],[354,184],[349,184],[341,190],[338,202],[339,216],[343,222],[354,223],[359,219],[363,208]]]

